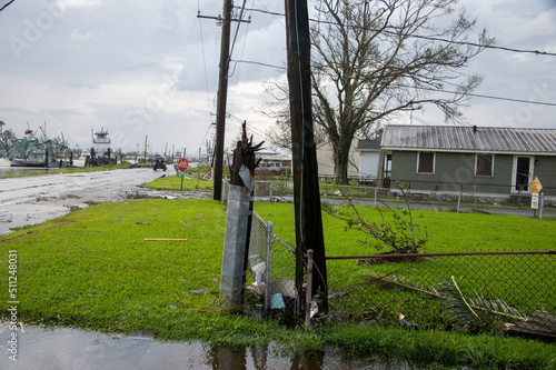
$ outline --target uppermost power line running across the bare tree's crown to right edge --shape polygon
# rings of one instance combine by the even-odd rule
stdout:
[[[275,11],[268,11],[265,9],[247,9],[250,11],[256,11],[260,12],[264,14],[270,14],[270,16],[281,16],[285,17],[286,14],[275,12]],[[319,20],[319,19],[312,19],[309,18],[311,22],[316,23],[322,23],[322,24],[330,24],[330,26],[341,26],[337,22],[332,21],[325,21],[325,20]],[[348,28],[357,28],[366,31],[373,31],[373,32],[384,32],[388,34],[395,34],[398,36],[399,33],[396,31],[389,31],[389,30],[379,30],[375,28],[368,28],[368,27],[361,27],[357,24],[346,24]],[[447,42],[447,43],[455,43],[455,44],[461,44],[461,46],[468,46],[468,47],[476,47],[476,48],[484,48],[484,49],[496,49],[496,50],[503,50],[503,51],[510,51],[510,52],[519,52],[519,53],[533,53],[537,56],[548,56],[548,57],[556,57],[556,52],[549,52],[549,51],[539,51],[539,50],[527,50],[527,49],[515,49],[515,48],[509,48],[509,47],[499,47],[499,46],[493,46],[493,44],[483,44],[478,42],[470,42],[470,41],[457,41],[457,40],[449,40],[449,39],[443,39],[434,36],[425,36],[425,34],[415,34],[415,33],[409,33],[407,34],[408,37],[413,37],[416,39],[423,39],[423,40],[429,40],[429,41],[440,41],[440,42]]]

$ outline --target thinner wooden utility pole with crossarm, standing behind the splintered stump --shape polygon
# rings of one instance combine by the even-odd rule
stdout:
[[[230,63],[230,22],[232,0],[224,0],[222,40],[220,44],[220,76],[216,112],[216,144],[212,199],[220,200],[222,191],[224,133],[226,128],[226,100],[228,97],[228,68]]]

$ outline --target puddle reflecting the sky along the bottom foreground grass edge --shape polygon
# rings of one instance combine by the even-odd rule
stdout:
[[[11,331],[0,329],[0,369],[62,370],[131,370],[131,369],[423,369],[404,361],[364,361],[346,359],[335,351],[319,358],[296,360],[281,357],[272,344],[234,351],[201,343],[159,342],[152,332],[133,332],[129,337],[106,336],[76,329],[42,329],[36,327]],[[9,343],[17,333],[17,361],[10,359]]]

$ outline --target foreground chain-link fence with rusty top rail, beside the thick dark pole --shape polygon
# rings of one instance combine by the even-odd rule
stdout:
[[[328,314],[314,320],[555,338],[555,254],[329,257]],[[252,303],[265,312],[297,312],[295,264],[294,248],[254,212],[247,280]]]

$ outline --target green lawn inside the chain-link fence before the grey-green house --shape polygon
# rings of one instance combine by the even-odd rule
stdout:
[[[255,209],[262,219],[272,220],[274,230],[281,239],[295,244],[292,204],[257,203]],[[359,212],[369,222],[380,220],[379,213],[371,207],[360,207]],[[554,250],[556,247],[554,220],[431,210],[413,212],[414,222],[428,229],[427,253]],[[361,246],[361,240],[368,239],[366,234],[353,229],[346,231],[346,223],[329,214],[322,214],[322,223],[327,256],[365,256],[385,251]],[[436,287],[454,276],[469,298],[480,293],[489,300],[503,299],[523,312],[538,309],[556,312],[553,293],[556,279],[554,263],[549,261],[554,258],[546,254],[436,257],[386,264],[329,260],[329,290],[350,292],[341,299],[330,300],[330,309],[344,317],[380,317],[393,323],[397,323],[403,313],[413,322],[437,329],[453,323],[454,319],[443,309],[440,301],[403,291],[384,291],[373,282],[369,277],[373,273],[400,277],[426,287]]]

